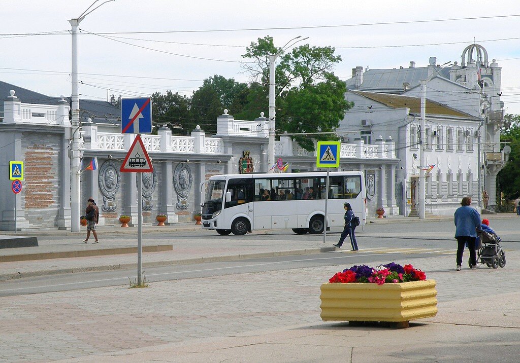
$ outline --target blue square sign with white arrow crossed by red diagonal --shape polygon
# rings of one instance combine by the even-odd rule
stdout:
[[[151,98],[121,99],[121,133],[152,133]]]

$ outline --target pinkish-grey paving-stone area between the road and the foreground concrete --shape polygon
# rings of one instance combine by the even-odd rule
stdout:
[[[454,271],[454,256],[398,260],[437,281],[443,302],[518,291],[520,251],[505,268]],[[467,257],[466,257],[467,258]],[[381,256],[381,263],[389,262]],[[53,361],[263,329],[322,325],[319,287],[348,266],[301,268],[5,297],[0,361]],[[520,327],[518,304],[505,312]]]

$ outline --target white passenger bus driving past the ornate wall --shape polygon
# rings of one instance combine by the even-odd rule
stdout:
[[[226,236],[292,228],[322,233],[327,172],[226,174],[210,178],[202,203],[202,228]],[[367,219],[365,178],[359,171],[330,172],[327,226],[344,225],[345,202],[361,224]]]

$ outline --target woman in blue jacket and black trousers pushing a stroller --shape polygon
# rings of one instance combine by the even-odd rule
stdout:
[[[476,230],[480,227],[480,214],[476,209],[470,207],[471,197],[464,197],[461,201],[461,207],[455,211],[454,222],[456,226],[455,238],[457,239],[457,268],[462,268],[462,253],[467,243],[470,249],[470,265],[471,268],[477,267],[477,256],[475,252],[475,240],[477,238]]]

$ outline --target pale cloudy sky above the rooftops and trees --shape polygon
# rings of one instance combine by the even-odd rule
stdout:
[[[0,34],[69,31],[67,20],[79,16],[93,1],[0,0]],[[467,5],[464,7],[464,4]],[[88,15],[80,28],[93,33],[229,30],[504,15],[520,15],[520,2],[116,0]],[[437,57],[439,64],[460,62],[462,50],[475,39],[487,49],[490,60],[496,58],[503,69],[502,101],[505,102],[506,112],[520,114],[520,39],[495,40],[520,37],[519,21],[520,16],[316,29],[112,35],[150,39],[155,42],[118,38],[121,42],[164,52],[231,62],[175,56],[86,34],[79,37],[79,71],[99,75],[81,74],[79,79],[84,84],[80,85],[80,94],[82,98],[95,99],[107,99],[107,93],[129,96],[173,90],[191,94],[204,78],[215,74],[246,82],[248,76],[242,73],[241,64],[235,62],[242,60],[240,55],[244,53],[245,46],[265,35],[273,36],[277,46],[302,35],[309,37],[305,43],[311,46],[336,47],[336,54],[341,55],[343,60],[336,66],[335,73],[343,79],[349,78],[352,68],[358,65],[370,69],[399,68],[407,67],[410,61],[415,61],[417,66],[425,66],[431,56]],[[433,45],[454,42],[461,43]],[[70,34],[20,37],[0,35],[0,44],[1,80],[46,95],[70,95]],[[419,44],[432,45],[375,48]],[[6,96],[0,95],[2,98]],[[266,104],[265,112],[267,109]],[[232,113],[233,110],[230,110]]]

